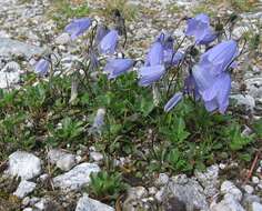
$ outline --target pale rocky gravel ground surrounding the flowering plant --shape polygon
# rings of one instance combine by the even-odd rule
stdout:
[[[77,2],[77,0],[75,0]],[[99,16],[99,9],[107,1],[89,1]],[[135,20],[128,21],[130,49],[142,57],[153,38],[161,29],[171,29],[183,16],[191,16],[195,8],[205,1],[180,0],[175,3],[168,0],[132,0],[138,7]],[[262,2],[261,2],[262,3]],[[260,6],[260,4],[259,4]],[[259,7],[258,6],[258,7]],[[61,57],[70,59],[69,38],[59,29],[57,20],[50,16],[54,4],[49,0],[1,0],[0,1],[0,88],[21,87],[20,78],[32,71],[33,56],[47,52],[57,44]],[[212,7],[212,12],[230,12],[226,1]],[[233,34],[240,37],[244,27],[256,29],[256,21],[262,21],[262,10],[241,12],[243,19]],[[98,14],[95,14],[98,12]],[[131,16],[131,14],[130,14]],[[100,17],[100,16],[99,16]],[[180,36],[183,28],[175,30]],[[249,58],[246,58],[249,59]],[[28,62],[29,61],[29,62]],[[246,61],[243,61],[246,64]],[[243,105],[253,118],[262,114],[262,59],[254,57],[246,69],[236,74],[232,98],[238,105]],[[240,90],[244,84],[245,90]],[[249,118],[250,115],[246,115]],[[246,129],[248,130],[248,129]],[[87,154],[89,154],[87,157]],[[44,157],[39,152],[16,151],[7,161],[0,162],[0,210],[75,210],[75,211],[139,211],[139,210],[175,210],[175,211],[262,211],[262,160],[253,171],[250,181],[232,179],[226,175],[240,173],[236,162],[218,163],[205,172],[195,171],[194,175],[160,173],[152,178],[150,184],[130,187],[125,195],[117,200],[114,207],[104,201],[89,198],[82,187],[90,182],[90,173],[100,171],[103,154],[94,148],[84,148],[75,152],[62,149],[47,149]],[[123,165],[128,158],[115,160]],[[52,168],[57,168],[53,174]],[[250,168],[250,167],[248,167]],[[2,172],[2,173],[1,173]],[[229,173],[230,172],[230,173]],[[20,177],[19,180],[17,178]],[[14,179],[11,179],[14,178]],[[9,200],[2,193],[9,192]]]

